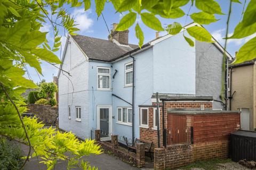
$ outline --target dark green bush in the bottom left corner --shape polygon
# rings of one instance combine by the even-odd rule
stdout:
[[[21,149],[15,143],[0,139],[0,169],[16,170],[20,169],[24,159],[21,159]]]

